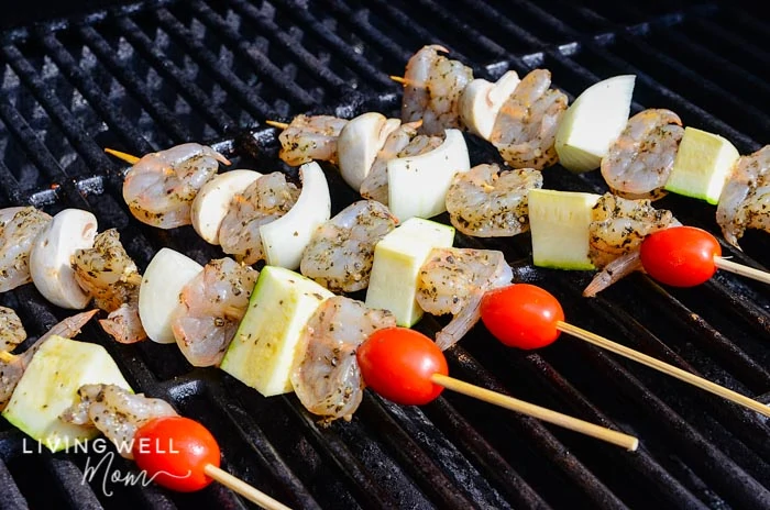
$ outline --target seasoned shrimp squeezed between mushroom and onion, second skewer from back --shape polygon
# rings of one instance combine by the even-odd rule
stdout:
[[[440,136],[418,135],[417,129],[420,125],[419,121],[402,124],[388,135],[385,145],[374,158],[372,169],[361,182],[360,192],[363,198],[387,206],[387,162],[397,157],[422,154],[441,145],[443,141]]]

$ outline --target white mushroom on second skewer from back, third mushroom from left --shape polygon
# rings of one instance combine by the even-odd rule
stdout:
[[[399,119],[387,119],[382,113],[367,112],[352,119],[337,138],[337,154],[342,178],[359,191],[377,153],[388,135],[402,124]]]

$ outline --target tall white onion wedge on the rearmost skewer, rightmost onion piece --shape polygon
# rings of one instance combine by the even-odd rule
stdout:
[[[566,109],[557,132],[561,166],[570,171],[595,170],[609,144],[626,126],[635,75],[620,75],[592,85]]]

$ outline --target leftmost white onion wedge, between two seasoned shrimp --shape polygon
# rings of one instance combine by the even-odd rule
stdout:
[[[204,266],[170,248],[161,248],[147,264],[139,287],[139,318],[150,340],[170,344],[172,313],[179,304],[179,292]]]

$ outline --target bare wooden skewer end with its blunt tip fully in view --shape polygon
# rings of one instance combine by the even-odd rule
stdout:
[[[510,409],[512,411],[520,412],[521,414],[527,414],[529,417],[547,421],[548,423],[553,423],[554,425],[563,426],[564,429],[580,432],[597,440],[606,441],[607,443],[612,443],[617,446],[623,446],[630,452],[636,451],[636,448],[639,446],[639,440],[632,435],[595,425],[593,423],[588,423],[587,421],[579,420],[550,409],[541,408],[540,406],[535,406],[534,403],[525,402],[524,400],[518,400],[513,397],[508,397],[507,395],[484,389],[453,377],[444,376],[442,374],[433,374],[430,379],[435,384],[443,386],[447,389],[451,389],[452,391],[477,398],[485,402],[493,403],[505,409]]]

